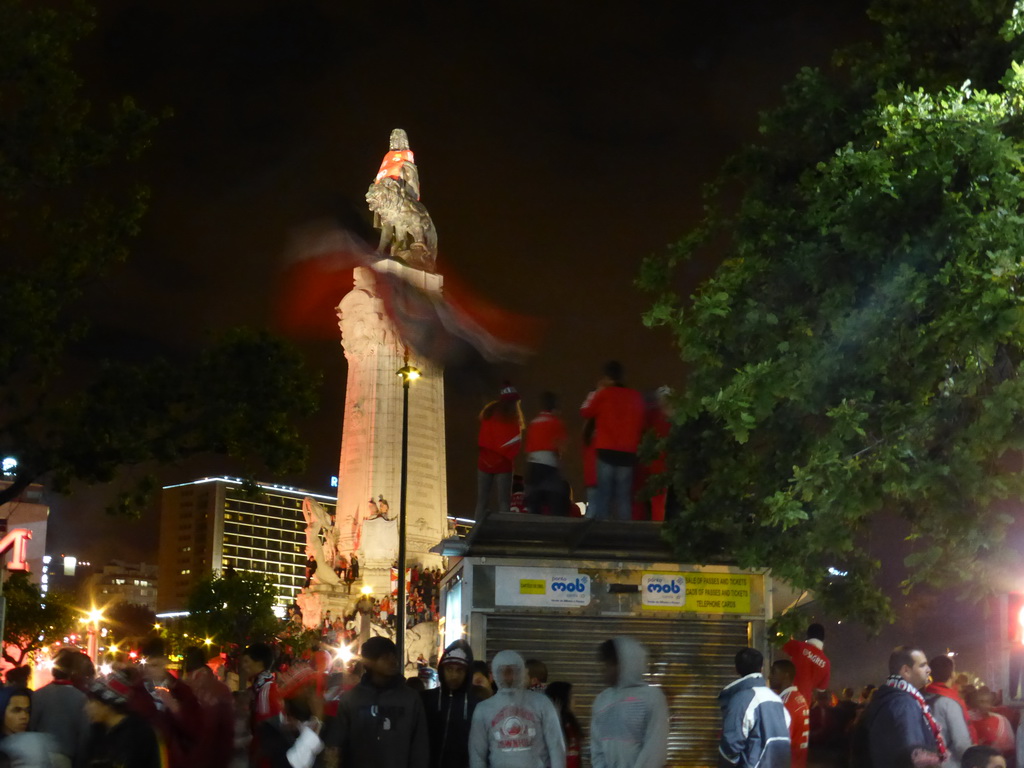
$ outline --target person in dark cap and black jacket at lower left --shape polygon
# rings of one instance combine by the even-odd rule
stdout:
[[[97,726],[87,751],[88,765],[159,768],[165,764],[153,727],[129,709],[132,684],[122,673],[94,680],[86,695],[86,713]]]

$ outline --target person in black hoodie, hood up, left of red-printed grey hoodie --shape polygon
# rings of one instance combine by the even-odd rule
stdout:
[[[444,649],[437,665],[440,685],[423,692],[430,737],[430,768],[469,768],[469,727],[477,697],[473,694],[473,650],[465,640]]]

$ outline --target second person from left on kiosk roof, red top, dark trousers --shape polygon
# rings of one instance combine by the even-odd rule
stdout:
[[[541,395],[541,413],[526,427],[526,509],[531,515],[568,513],[567,486],[560,469],[567,434],[554,392]]]

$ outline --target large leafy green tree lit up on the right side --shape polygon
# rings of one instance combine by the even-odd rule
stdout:
[[[883,42],[804,71],[702,225],[640,278],[646,322],[692,371],[668,440],[680,556],[770,566],[876,628],[892,612],[872,527],[902,518],[907,588],[991,586],[1000,502],[1024,496],[1008,471],[1024,449],[1024,10],[938,5],[878,3]],[[721,249],[689,301],[666,288]]]

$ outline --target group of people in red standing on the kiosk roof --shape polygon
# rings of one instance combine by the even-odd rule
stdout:
[[[669,433],[671,390],[646,396],[628,387],[622,364],[610,361],[580,408],[587,516],[594,519],[665,520],[671,515],[670,489],[648,488],[665,470],[665,455],[641,459],[644,436]],[[519,392],[502,387],[498,399],[480,412],[477,436],[475,518],[500,513],[580,514],[573,489],[562,471],[570,439],[553,392],[544,392],[539,412],[527,423]],[[520,457],[525,471],[516,473]],[[657,484],[656,482],[654,483]],[[492,507],[492,502],[497,504]]]

